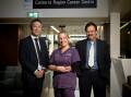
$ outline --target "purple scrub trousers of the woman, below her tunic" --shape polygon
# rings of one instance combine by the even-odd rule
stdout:
[[[75,97],[73,88],[55,88],[55,97]]]

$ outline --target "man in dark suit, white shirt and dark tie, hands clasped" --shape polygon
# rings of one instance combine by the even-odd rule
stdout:
[[[45,38],[39,37],[43,28],[40,20],[31,22],[31,35],[20,40],[19,57],[22,64],[24,97],[40,97],[45,69],[49,63]]]

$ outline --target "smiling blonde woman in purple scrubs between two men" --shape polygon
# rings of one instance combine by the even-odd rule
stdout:
[[[70,47],[67,33],[58,34],[59,48],[50,57],[49,69],[53,71],[55,97],[74,97],[79,52]]]

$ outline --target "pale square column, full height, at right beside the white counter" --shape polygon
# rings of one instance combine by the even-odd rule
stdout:
[[[121,97],[118,77],[116,75],[115,64],[112,59],[118,59],[120,56],[120,13],[110,12],[110,97]]]

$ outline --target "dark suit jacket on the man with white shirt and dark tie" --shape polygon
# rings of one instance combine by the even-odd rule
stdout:
[[[39,38],[39,44],[41,50],[43,66],[47,68],[49,63],[49,57],[45,38]],[[34,72],[35,70],[37,70],[38,60],[31,36],[20,41],[19,59],[22,64],[23,78],[27,78],[27,75],[32,75],[35,77]]]

